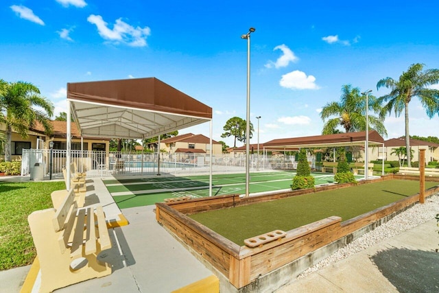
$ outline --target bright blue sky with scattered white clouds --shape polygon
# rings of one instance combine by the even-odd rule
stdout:
[[[358,3],[357,3],[358,2]],[[251,120],[257,142],[318,135],[319,110],[343,84],[379,89],[413,63],[439,68],[438,1],[6,0],[0,6],[0,78],[39,87],[66,110],[67,82],[155,77],[213,108],[213,139],[246,118],[251,35]],[[439,89],[439,87],[438,87]],[[385,120],[388,137],[403,117]],[[410,134],[439,137],[410,103]],[[209,136],[209,124],[180,130]],[[241,145],[239,143],[239,145]],[[238,146],[239,146],[238,145]]]

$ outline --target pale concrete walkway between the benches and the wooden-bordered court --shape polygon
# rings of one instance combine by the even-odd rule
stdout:
[[[102,204],[106,220],[119,220],[121,211],[102,180],[91,180],[87,181],[85,205]],[[102,253],[102,259],[110,263],[112,274],[56,292],[171,292],[211,276],[210,270],[156,222],[154,207],[123,209],[130,224],[110,229],[112,248]],[[30,267],[1,271],[0,292],[20,292]]]

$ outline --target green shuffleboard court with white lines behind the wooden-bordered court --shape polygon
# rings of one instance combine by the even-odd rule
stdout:
[[[261,172],[250,174],[250,194],[289,189],[296,172]],[[316,185],[333,183],[333,174],[311,173]],[[357,176],[362,178],[362,176]],[[209,196],[209,175],[154,176],[103,180],[120,209],[141,207],[165,198]],[[246,174],[215,174],[212,195],[246,193]]]

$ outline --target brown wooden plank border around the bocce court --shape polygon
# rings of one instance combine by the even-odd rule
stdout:
[[[377,181],[392,179],[419,180],[419,176],[390,174],[375,180],[359,181],[358,184],[375,183]],[[439,178],[428,179],[439,182]],[[228,281],[230,281],[235,288],[239,289],[249,285],[264,274],[281,268],[287,263],[292,263],[300,257],[312,253],[318,248],[327,246],[332,242],[336,242],[342,237],[346,237],[361,228],[370,224],[374,227],[379,226],[382,218],[392,214],[396,215],[407,209],[407,207],[416,204],[419,199],[419,194],[393,202],[385,207],[380,207],[379,209],[364,213],[363,215],[344,222],[342,222],[340,217],[332,216],[318,222],[294,228],[293,230],[287,231],[287,235],[278,239],[278,241],[270,242],[264,244],[262,247],[256,248],[239,246],[206,226],[187,217],[188,214],[238,207],[246,204],[351,186],[353,186],[353,184],[347,183],[316,187],[315,189],[251,196],[249,198],[239,198],[238,195],[230,195],[198,198],[182,202],[157,203],[156,220],[178,237],[181,242],[192,248],[195,253],[211,263],[211,266],[224,274]],[[431,196],[438,191],[439,186],[431,187],[425,191],[425,196]],[[390,218],[392,217],[390,216]],[[366,232],[367,231],[364,231],[364,233]],[[357,235],[357,237],[359,237],[359,235]],[[346,244],[353,240],[353,237],[351,237],[351,240],[346,241]]]

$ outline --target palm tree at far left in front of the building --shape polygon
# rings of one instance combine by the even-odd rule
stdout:
[[[36,107],[36,108],[34,108]],[[0,80],[0,123],[5,124],[5,161],[11,161],[12,130],[26,138],[29,128],[40,123],[45,132],[52,130],[50,117],[54,106],[40,95],[40,90],[29,82]]]

